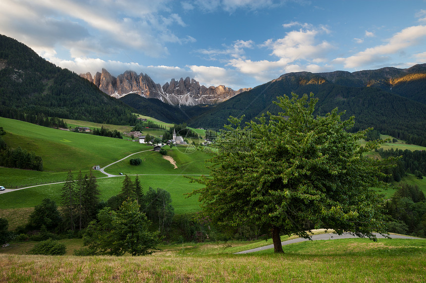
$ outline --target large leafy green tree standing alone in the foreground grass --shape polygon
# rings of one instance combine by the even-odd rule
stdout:
[[[364,156],[379,142],[361,146],[367,130],[348,132],[354,118],[341,121],[337,109],[315,117],[312,93],[277,99],[278,115],[245,126],[229,119],[211,174],[192,193],[204,212],[219,224],[270,228],[275,252],[280,235],[308,238],[313,227],[373,240],[373,232],[385,234],[383,199],[372,187],[386,187],[378,178],[386,164]]]

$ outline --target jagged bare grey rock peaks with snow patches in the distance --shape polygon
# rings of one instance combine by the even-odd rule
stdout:
[[[97,72],[92,79],[90,73],[80,74],[81,77],[93,82],[99,89],[115,98],[129,93],[137,93],[146,98],[157,98],[173,106],[194,106],[198,104],[216,104],[225,101],[237,94],[250,90],[241,88],[233,90],[224,85],[206,87],[200,86],[198,81],[187,77],[179,81],[172,79],[163,86],[155,83],[148,75],[137,75],[133,71],[126,71],[117,78],[111,76],[105,69]]]

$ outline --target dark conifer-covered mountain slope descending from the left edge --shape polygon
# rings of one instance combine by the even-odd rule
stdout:
[[[132,124],[132,109],[93,83],[56,67],[28,46],[0,35],[0,116],[26,115]]]

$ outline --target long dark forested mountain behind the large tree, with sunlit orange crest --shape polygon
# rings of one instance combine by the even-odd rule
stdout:
[[[426,64],[354,73],[287,73],[193,117],[188,124],[222,128],[229,116],[242,115],[243,122],[250,121],[267,111],[281,111],[272,103],[277,96],[313,92],[319,98],[316,115],[338,107],[346,111],[343,119],[355,116],[352,130],[374,127],[410,143],[426,145]]]

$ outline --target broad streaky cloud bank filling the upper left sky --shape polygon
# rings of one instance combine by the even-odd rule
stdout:
[[[63,48],[69,49],[72,57],[99,56],[132,48],[160,57],[168,54],[166,42],[195,40],[178,38],[168,29],[186,26],[167,8],[170,1],[1,0],[0,33],[24,42],[39,54]]]

